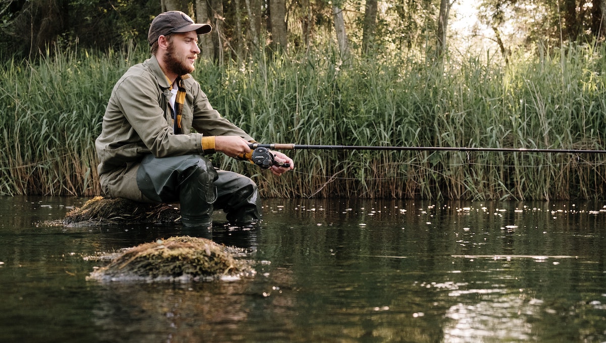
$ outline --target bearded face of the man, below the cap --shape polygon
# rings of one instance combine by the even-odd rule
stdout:
[[[200,48],[198,48],[196,31],[174,33],[172,39],[168,42],[164,62],[168,71],[184,75],[195,69],[194,62],[199,53]]]

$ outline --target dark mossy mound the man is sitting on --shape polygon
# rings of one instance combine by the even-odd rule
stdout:
[[[102,225],[116,223],[178,223],[180,212],[168,204],[138,203],[125,198],[94,197],[68,212],[50,226]]]

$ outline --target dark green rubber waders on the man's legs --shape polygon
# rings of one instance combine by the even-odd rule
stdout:
[[[186,227],[210,227],[215,208],[223,209],[227,220],[237,226],[261,219],[255,182],[214,168],[202,155],[156,158],[149,154],[139,166],[137,185],[150,200],[179,201],[181,223]]]

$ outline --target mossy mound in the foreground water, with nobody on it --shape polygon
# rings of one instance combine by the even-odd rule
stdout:
[[[237,248],[206,238],[171,237],[127,249],[90,278],[106,281],[176,280],[254,274]]]

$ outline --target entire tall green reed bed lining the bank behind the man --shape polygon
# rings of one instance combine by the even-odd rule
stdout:
[[[604,149],[604,47],[428,65],[376,56],[342,67],[330,49],[195,71],[211,103],[262,143]],[[133,57],[135,56],[135,57]],[[98,194],[93,142],[113,83],[145,53],[66,52],[5,62],[0,192]],[[18,94],[18,95],[15,95]],[[290,151],[265,197],[603,198],[603,155]],[[265,173],[268,174],[268,173]]]

